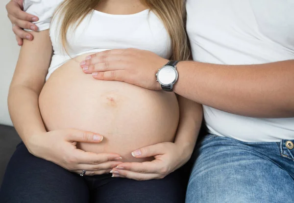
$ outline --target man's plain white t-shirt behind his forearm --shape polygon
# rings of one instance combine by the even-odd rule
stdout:
[[[187,0],[187,32],[195,61],[294,60],[294,0]],[[249,118],[208,106],[204,118],[210,133],[240,141],[294,139],[294,118]]]

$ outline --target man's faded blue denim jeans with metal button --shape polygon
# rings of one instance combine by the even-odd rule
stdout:
[[[286,142],[204,137],[186,203],[294,203],[294,141]]]

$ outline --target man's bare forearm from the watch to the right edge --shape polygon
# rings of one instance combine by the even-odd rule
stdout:
[[[294,117],[294,60],[259,65],[178,63],[174,92],[248,117]]]

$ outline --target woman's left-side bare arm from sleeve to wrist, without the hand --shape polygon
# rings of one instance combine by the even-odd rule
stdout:
[[[21,48],[8,94],[11,120],[28,149],[32,135],[46,132],[39,112],[38,97],[52,54],[49,31],[33,34],[36,40],[25,41]]]

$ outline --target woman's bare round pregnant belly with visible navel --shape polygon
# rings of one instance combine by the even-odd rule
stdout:
[[[98,81],[84,74],[79,62],[68,61],[45,83],[39,107],[48,131],[76,128],[103,135],[100,143],[78,143],[91,152],[118,153],[125,162],[143,162],[131,152],[172,142],[179,121],[174,93],[147,90],[120,81]]]

